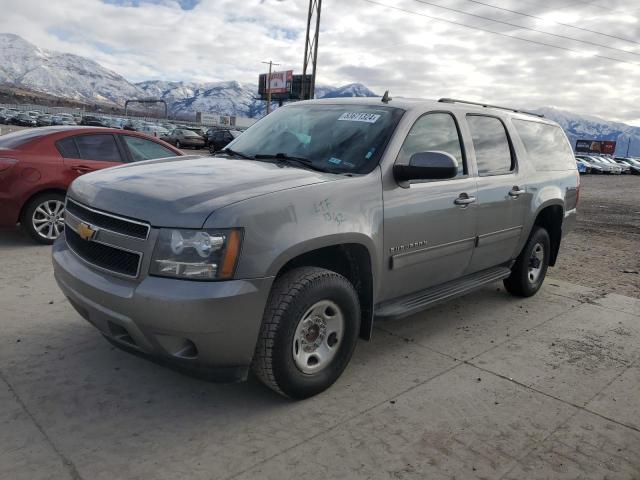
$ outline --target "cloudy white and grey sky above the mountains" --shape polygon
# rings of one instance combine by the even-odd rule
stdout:
[[[307,0],[0,0],[0,31],[131,81],[257,83],[265,60],[301,73],[307,8]],[[640,125],[639,19],[637,0],[323,0],[317,83]]]

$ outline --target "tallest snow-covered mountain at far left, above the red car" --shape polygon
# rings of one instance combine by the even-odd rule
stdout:
[[[88,104],[121,105],[138,88],[85,57],[41,49],[18,35],[0,34],[0,84]]]

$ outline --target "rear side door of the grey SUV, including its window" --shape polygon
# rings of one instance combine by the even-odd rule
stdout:
[[[477,114],[466,120],[478,171],[478,239],[469,265],[473,273],[515,257],[531,194],[504,122]]]

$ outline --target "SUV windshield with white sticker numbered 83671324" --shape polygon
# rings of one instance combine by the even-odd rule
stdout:
[[[403,113],[382,105],[291,105],[267,115],[228,148],[250,157],[302,157],[325,171],[368,173]]]

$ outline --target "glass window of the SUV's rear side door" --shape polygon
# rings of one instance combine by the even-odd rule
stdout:
[[[511,172],[515,165],[502,122],[495,117],[467,115],[467,123],[476,151],[478,175],[487,177]]]

